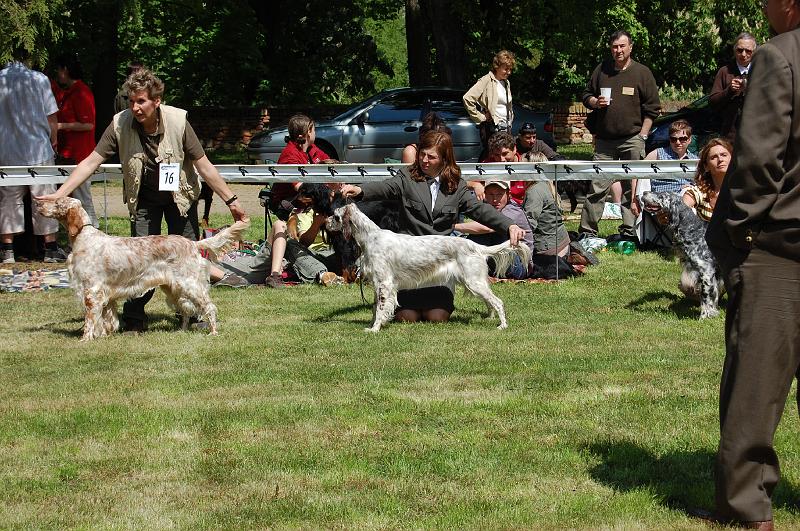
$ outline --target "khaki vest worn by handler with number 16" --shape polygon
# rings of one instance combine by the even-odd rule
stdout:
[[[158,155],[164,162],[181,163],[180,185],[172,192],[175,205],[181,216],[186,216],[189,207],[200,197],[200,181],[194,171],[192,161],[183,151],[183,134],[186,130],[186,111],[169,105],[159,106],[164,124],[164,137],[158,144]],[[139,189],[142,186],[144,166],[147,155],[133,128],[133,113],[126,109],[114,115],[114,134],[117,136],[119,160],[122,162],[122,198],[128,205],[131,216],[136,214],[139,203]]]

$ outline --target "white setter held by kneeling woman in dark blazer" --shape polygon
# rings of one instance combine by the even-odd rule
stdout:
[[[486,259],[495,260],[495,269],[506,271],[519,256],[527,264],[531,250],[524,243],[510,242],[492,247],[452,236],[409,236],[379,228],[355,204],[337,208],[328,217],[327,228],[354,238],[362,250],[362,271],[375,288],[373,321],[368,332],[377,332],[389,322],[397,307],[397,291],[457,282],[483,299],[489,317],[497,314],[500,326],[508,326],[505,309],[489,285]]]

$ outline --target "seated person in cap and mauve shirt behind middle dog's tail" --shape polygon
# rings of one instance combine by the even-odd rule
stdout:
[[[523,241],[533,250],[532,233],[528,225],[528,220],[525,217],[525,212],[523,212],[519,205],[509,200],[510,183],[508,181],[489,180],[486,181],[485,186],[486,198],[484,199],[484,203],[492,205],[497,211],[513,221],[515,225],[522,228],[525,231]],[[467,234],[467,238],[481,245],[497,245],[508,239],[508,235],[495,232],[493,229],[477,221],[456,223],[454,230]],[[491,265],[489,273],[495,274]],[[514,265],[509,268],[505,276],[516,279],[527,278],[528,265],[526,264],[523,266],[519,257],[517,257],[515,258]]]

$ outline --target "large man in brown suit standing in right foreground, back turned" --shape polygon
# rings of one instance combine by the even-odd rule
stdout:
[[[800,367],[800,0],[768,0],[734,161],[706,233],[728,289],[718,521],[772,529],[773,448]]]

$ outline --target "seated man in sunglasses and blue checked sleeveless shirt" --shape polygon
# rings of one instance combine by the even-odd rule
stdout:
[[[689,151],[692,142],[692,126],[686,120],[675,120],[669,126],[669,145],[654,149],[645,160],[697,160],[697,155]],[[636,232],[642,246],[672,246],[672,234],[668,228],[659,227],[657,219],[642,210],[641,197],[647,190],[653,192],[676,192],[690,186],[689,179],[632,179],[633,201],[631,212],[636,216]]]

